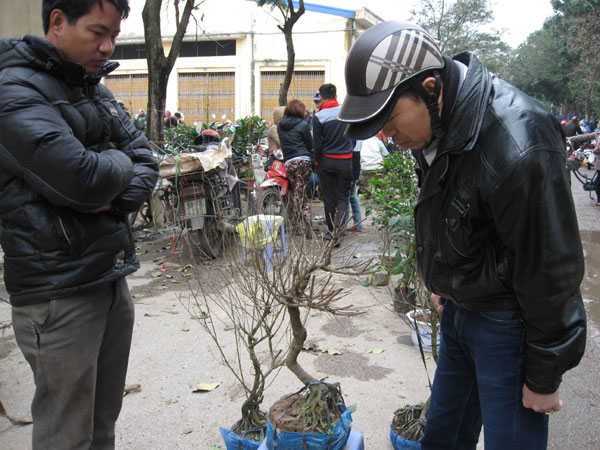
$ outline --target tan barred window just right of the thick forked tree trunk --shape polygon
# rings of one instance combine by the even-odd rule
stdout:
[[[188,125],[235,120],[235,72],[180,73],[179,109]]]

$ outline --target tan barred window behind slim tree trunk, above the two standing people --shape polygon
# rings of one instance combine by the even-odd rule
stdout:
[[[283,71],[263,71],[260,74],[260,116],[268,121],[273,120],[273,110],[279,106],[279,89],[283,83]],[[315,92],[325,83],[324,70],[294,71],[288,101],[298,99],[306,105],[306,109],[314,109]]]

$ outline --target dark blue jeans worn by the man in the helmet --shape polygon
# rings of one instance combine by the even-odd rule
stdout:
[[[546,449],[548,416],[523,407],[521,311],[476,312],[446,301],[423,450]]]

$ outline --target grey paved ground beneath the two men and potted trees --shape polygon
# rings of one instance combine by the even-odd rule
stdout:
[[[600,385],[597,326],[600,207],[595,206],[595,201],[576,180],[573,197],[586,252],[582,290],[590,313],[590,331],[581,364],[565,376],[562,385],[565,407],[551,418],[549,448],[597,450],[600,448],[597,389]],[[170,253],[167,235],[139,245],[142,269],[129,278],[137,312],[127,383],[139,383],[142,390],[124,398],[117,429],[118,447],[222,449],[218,428],[237,420],[243,393],[216,360],[214,345],[187,309],[186,272],[179,270],[186,266],[186,261]],[[380,245],[376,230],[368,226],[365,232],[351,235],[342,250],[354,259],[368,258],[378,254]],[[211,264],[198,267],[210,279]],[[391,308],[389,287],[364,287],[362,281],[349,276],[338,278],[338,283],[350,292],[344,301],[357,305],[365,314],[353,318],[310,314],[309,340],[321,352],[303,353],[302,363],[315,375],[340,381],[347,403],[358,407],[353,414],[354,427],[365,436],[366,447],[389,450],[392,447],[388,427],[394,410],[424,400],[427,378],[412,346],[410,330]],[[0,289],[0,295],[5,296],[3,291]],[[0,324],[9,320],[10,308],[0,302]],[[226,330],[224,323],[223,331]],[[232,348],[233,342],[226,341],[225,345]],[[333,349],[340,350],[342,355],[322,352]],[[383,352],[370,353],[372,350]],[[432,372],[431,360],[428,365]],[[206,394],[192,393],[198,383],[208,382],[221,385]],[[297,388],[298,382],[282,371],[267,391],[265,407]],[[12,330],[4,328],[0,330],[0,400],[9,414],[27,418],[32,392],[29,367],[16,347]],[[15,427],[0,418],[0,449],[30,448],[30,432],[30,427]]]

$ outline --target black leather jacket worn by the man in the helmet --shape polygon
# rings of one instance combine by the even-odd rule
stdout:
[[[526,383],[554,392],[585,348],[584,263],[560,124],[471,54],[415,208],[428,289],[471,310],[520,308]],[[446,105],[444,105],[446,106]]]

